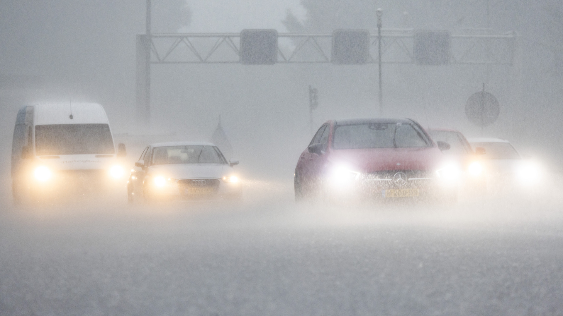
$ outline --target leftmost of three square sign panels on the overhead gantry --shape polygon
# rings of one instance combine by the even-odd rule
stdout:
[[[240,63],[274,65],[278,61],[278,31],[243,30],[240,32]]]

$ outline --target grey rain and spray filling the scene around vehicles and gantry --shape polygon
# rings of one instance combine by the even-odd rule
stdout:
[[[377,34],[377,8],[384,31],[516,34],[515,49],[486,52],[508,52],[510,63],[383,62],[383,116],[507,139],[546,170],[541,192],[455,206],[296,204],[296,163],[321,124],[379,117],[377,64],[153,64],[145,125],[136,105],[144,1],[3,0],[0,315],[562,314],[560,1],[152,0],[151,31]],[[483,87],[500,114],[481,129],[464,108]],[[130,205],[123,186],[101,200],[17,209],[17,111],[69,100],[104,107],[127,146],[127,173],[149,143],[209,141],[220,121],[243,200]]]

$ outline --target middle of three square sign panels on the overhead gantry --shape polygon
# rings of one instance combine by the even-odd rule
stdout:
[[[332,32],[333,64],[362,65],[369,59],[368,30],[334,30]]]

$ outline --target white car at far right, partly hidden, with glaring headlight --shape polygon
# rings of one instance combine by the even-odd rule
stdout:
[[[504,188],[537,187],[543,178],[539,164],[523,159],[512,144],[501,138],[469,138],[469,143],[481,151],[481,163],[484,166],[489,189],[495,191]]]

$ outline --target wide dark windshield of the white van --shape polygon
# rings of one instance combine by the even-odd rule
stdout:
[[[114,154],[108,124],[35,126],[35,155]]]

